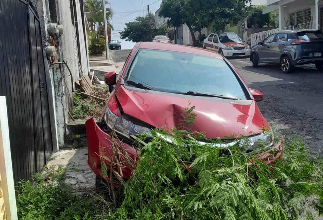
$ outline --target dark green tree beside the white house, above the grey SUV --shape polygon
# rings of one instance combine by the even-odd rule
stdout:
[[[276,27],[276,13],[263,14],[262,9],[265,7],[265,5],[252,6],[252,15],[247,19],[248,28],[252,26],[260,28],[265,26]]]

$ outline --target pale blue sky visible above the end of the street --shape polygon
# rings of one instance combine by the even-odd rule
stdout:
[[[155,14],[161,4],[161,0],[109,0],[109,2],[113,11],[112,26],[114,27],[111,39],[119,40],[121,49],[131,49],[135,45],[132,41],[120,39],[119,32],[126,27],[125,23],[134,21],[138,16],[146,16],[148,14],[147,5],[150,5],[151,13]]]

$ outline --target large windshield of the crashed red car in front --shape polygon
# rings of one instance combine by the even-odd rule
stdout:
[[[234,72],[222,58],[192,53],[141,49],[125,84],[169,93],[194,91],[246,99]]]

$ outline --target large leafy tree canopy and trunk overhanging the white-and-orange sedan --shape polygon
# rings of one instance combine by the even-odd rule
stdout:
[[[251,0],[162,0],[159,15],[168,17],[169,26],[186,24],[190,29],[194,45],[194,32],[214,23],[214,31],[224,31],[231,21],[238,22],[247,17],[247,3]]]

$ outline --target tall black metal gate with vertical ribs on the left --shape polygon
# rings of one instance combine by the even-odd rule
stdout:
[[[6,96],[15,182],[41,171],[53,150],[46,86],[35,8],[0,0],[0,95]]]

